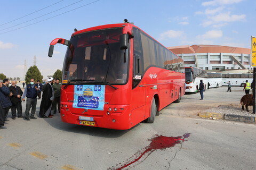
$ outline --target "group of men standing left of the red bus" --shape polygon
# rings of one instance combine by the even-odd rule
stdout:
[[[16,85],[17,81],[12,81],[12,86],[10,87],[8,87],[10,83],[8,79],[0,82],[0,129],[6,129],[4,123],[5,121],[9,121],[7,120],[7,115],[10,108],[13,120],[16,118],[16,111],[18,112],[18,117],[24,117],[24,120],[30,121],[30,119],[37,119],[35,117],[36,104],[37,97],[41,99],[41,91],[43,91],[43,96],[39,116],[52,117],[51,111],[55,114],[57,112],[57,105],[60,113],[61,84],[59,82],[59,79],[49,78],[46,84],[42,85],[40,81],[35,83],[34,79],[30,79],[30,83],[27,84],[24,92]],[[22,116],[21,102],[25,101],[25,97],[27,97],[26,111],[25,116]],[[31,114],[29,116],[30,108]]]

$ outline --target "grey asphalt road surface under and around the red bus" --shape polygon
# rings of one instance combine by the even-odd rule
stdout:
[[[63,123],[59,114],[31,121],[9,117],[0,130],[0,169],[256,169],[255,124],[196,116],[200,109],[229,104],[217,95],[225,90],[207,90],[203,101],[199,94],[185,95],[153,124],[123,131]],[[237,103],[241,95],[234,88],[223,100]]]

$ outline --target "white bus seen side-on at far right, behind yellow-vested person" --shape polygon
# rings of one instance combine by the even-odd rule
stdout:
[[[222,85],[228,86],[230,81],[231,86],[242,86],[244,87],[245,80],[248,80],[249,83],[253,81],[253,73],[227,73],[222,74]]]

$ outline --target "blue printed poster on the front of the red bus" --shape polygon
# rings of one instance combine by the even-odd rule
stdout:
[[[105,85],[75,85],[75,108],[103,111],[105,104]]]

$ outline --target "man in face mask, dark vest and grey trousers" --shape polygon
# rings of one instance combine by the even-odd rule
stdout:
[[[22,100],[25,101],[25,97],[27,97],[27,103],[26,103],[26,111],[25,111],[25,120],[30,121],[31,119],[36,119],[35,113],[36,113],[36,103],[37,103],[37,94],[40,89],[38,88],[37,84],[34,84],[35,80],[30,79],[30,84],[27,84],[25,91],[22,96]],[[29,117],[29,111],[31,109],[31,115]]]

